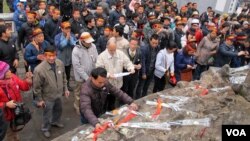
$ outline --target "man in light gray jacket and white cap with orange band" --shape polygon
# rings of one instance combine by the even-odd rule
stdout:
[[[75,102],[74,108],[77,114],[79,112],[80,91],[83,82],[87,81],[90,72],[95,68],[97,60],[97,49],[93,44],[94,39],[88,32],[83,32],[76,42],[76,46],[72,52],[72,64],[76,80],[76,87],[74,89]]]

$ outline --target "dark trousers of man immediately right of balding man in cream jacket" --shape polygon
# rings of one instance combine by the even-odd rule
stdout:
[[[139,74],[134,73],[129,76],[123,77],[123,86],[122,86],[122,91],[127,93],[130,97],[134,98],[134,91],[136,89],[136,84],[139,79]]]

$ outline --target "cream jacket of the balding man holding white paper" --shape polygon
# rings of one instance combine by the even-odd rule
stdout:
[[[116,50],[115,55],[112,57],[106,49],[102,52],[96,61],[96,67],[103,67],[107,70],[108,74],[122,73],[123,68],[131,71],[134,70],[133,63],[129,58],[120,50]],[[116,79],[109,79],[109,82],[116,88],[120,89],[123,84],[122,77]]]

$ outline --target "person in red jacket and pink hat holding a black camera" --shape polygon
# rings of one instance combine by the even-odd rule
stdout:
[[[3,109],[4,118],[11,124],[16,118],[15,108],[22,102],[20,91],[28,91],[32,85],[32,73],[27,72],[26,78],[21,80],[15,74],[11,73],[10,66],[0,61],[0,108]],[[9,127],[5,137],[6,141],[19,140],[17,132],[13,132]]]

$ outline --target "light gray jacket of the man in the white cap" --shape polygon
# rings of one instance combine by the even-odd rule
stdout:
[[[98,53],[94,44],[86,48],[81,42],[76,43],[72,52],[72,64],[76,81],[83,82],[88,79],[90,72],[95,68],[97,56]]]

